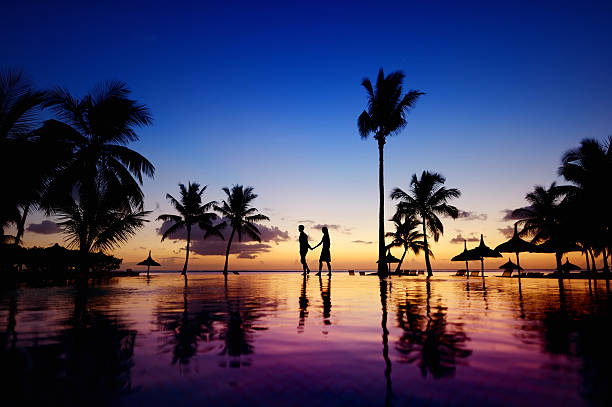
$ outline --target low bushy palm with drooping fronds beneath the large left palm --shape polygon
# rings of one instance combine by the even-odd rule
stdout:
[[[150,211],[134,210],[123,205],[121,194],[105,188],[90,196],[67,197],[56,203],[58,226],[66,234],[70,247],[78,248],[81,270],[89,269],[87,259],[93,252],[104,252],[128,241],[141,228]]]

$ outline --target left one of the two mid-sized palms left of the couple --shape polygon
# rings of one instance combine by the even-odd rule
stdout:
[[[168,237],[176,234],[177,232],[187,229],[187,247],[185,249],[185,265],[181,274],[187,278],[187,263],[189,262],[189,244],[191,242],[191,228],[193,225],[198,225],[202,230],[206,232],[204,237],[210,235],[219,236],[223,239],[223,235],[219,231],[220,228],[224,227],[225,224],[219,224],[213,226],[212,222],[217,219],[217,215],[212,212],[208,212],[214,205],[217,204],[215,201],[210,201],[202,204],[202,194],[206,190],[206,185],[200,188],[200,184],[194,182],[187,183],[187,187],[184,184],[179,184],[179,191],[181,194],[180,201],[174,198],[170,194],[166,194],[166,199],[170,201],[170,204],[174,206],[174,209],[180,215],[164,214],[159,215],[157,220],[164,222],[173,222],[172,225],[162,235],[162,242]]]

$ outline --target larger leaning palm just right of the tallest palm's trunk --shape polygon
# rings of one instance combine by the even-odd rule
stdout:
[[[444,233],[444,225],[438,215],[450,216],[453,219],[457,219],[457,216],[459,216],[459,210],[447,202],[461,196],[461,192],[457,188],[442,186],[445,181],[446,178],[441,174],[423,171],[421,179],[418,179],[416,174],[412,175],[410,193],[406,193],[400,188],[395,188],[391,193],[391,199],[400,200],[397,205],[399,216],[417,216],[420,218],[423,226],[424,247],[429,247],[427,243],[428,231],[432,234],[435,242]],[[427,276],[432,276],[429,250],[425,250],[425,265],[427,266]]]

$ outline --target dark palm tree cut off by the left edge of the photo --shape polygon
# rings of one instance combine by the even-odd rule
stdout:
[[[27,139],[47,96],[47,92],[34,89],[23,72],[13,69],[0,72],[0,173],[23,170],[23,159],[29,150]],[[19,206],[28,201],[32,188],[22,175],[1,178],[0,190],[5,195],[0,200],[0,236],[4,236],[4,228],[9,224],[19,225],[23,216]]]

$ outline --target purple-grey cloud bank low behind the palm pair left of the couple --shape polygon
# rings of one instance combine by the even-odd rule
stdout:
[[[164,222],[162,226],[157,229],[157,233],[162,235],[168,230],[170,224],[171,222]],[[283,231],[277,226],[268,227],[257,225],[257,228],[260,232],[261,242],[256,242],[244,234],[242,235],[242,241],[239,241],[238,235],[234,235],[230,254],[237,254],[238,258],[241,259],[254,259],[260,253],[269,252],[272,248],[270,243],[279,244],[280,242],[289,240],[289,232]],[[191,250],[200,255],[225,256],[231,229],[229,226],[225,227],[221,233],[225,237],[225,240],[221,240],[216,236],[204,240],[204,231],[195,225],[191,230]],[[182,230],[169,237],[169,239],[174,241],[185,241],[187,239],[187,231]]]

